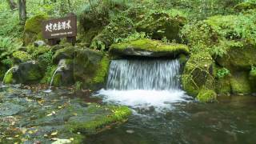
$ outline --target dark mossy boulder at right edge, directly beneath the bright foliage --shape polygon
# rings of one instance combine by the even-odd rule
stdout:
[[[232,48],[222,57],[216,58],[216,62],[220,66],[232,70],[247,70],[251,66],[256,66],[256,49],[254,46],[246,46],[242,48]]]

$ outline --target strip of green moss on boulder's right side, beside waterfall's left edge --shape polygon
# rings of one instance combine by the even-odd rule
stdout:
[[[104,83],[106,81],[106,76],[109,71],[110,66],[110,59],[105,56],[102,58],[101,62],[99,63],[99,68],[96,70],[94,75],[93,82],[94,83]]]

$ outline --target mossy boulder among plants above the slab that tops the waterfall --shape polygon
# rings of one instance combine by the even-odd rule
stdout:
[[[146,32],[154,39],[167,38],[170,41],[181,42],[179,32],[186,24],[185,17],[173,16],[163,10],[151,10],[150,14],[142,16],[142,20],[135,25],[138,32]]]

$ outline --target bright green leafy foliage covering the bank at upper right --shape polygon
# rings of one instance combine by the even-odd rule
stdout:
[[[255,22],[255,13],[218,15],[184,26],[182,38],[192,53],[206,51],[222,57],[229,49],[256,45]]]

